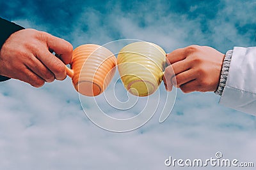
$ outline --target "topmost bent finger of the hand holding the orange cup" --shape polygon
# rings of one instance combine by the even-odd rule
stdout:
[[[45,34],[47,34],[46,41],[49,49],[53,50],[55,53],[58,53],[58,55],[60,55],[60,59],[65,64],[69,64],[72,60],[73,46],[65,39],[52,36],[48,33]]]

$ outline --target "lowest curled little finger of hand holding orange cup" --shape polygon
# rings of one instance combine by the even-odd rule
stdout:
[[[33,73],[33,71],[31,71],[29,68],[23,69],[22,74],[20,74],[17,79],[29,83],[33,87],[37,88],[42,87],[45,83],[42,78]]]

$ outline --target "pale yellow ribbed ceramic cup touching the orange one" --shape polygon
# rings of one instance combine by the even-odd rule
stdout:
[[[165,60],[166,53],[154,43],[140,41],[124,46],[117,64],[125,89],[135,96],[156,92],[163,80]]]

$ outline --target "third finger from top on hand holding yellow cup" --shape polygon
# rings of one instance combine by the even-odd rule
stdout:
[[[196,74],[194,69],[189,69],[188,71],[184,71],[180,74],[177,74],[175,77],[172,77],[172,84],[175,87],[180,87],[181,85],[188,83],[191,80],[196,79]]]

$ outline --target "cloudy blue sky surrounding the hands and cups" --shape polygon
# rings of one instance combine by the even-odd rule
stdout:
[[[225,53],[256,45],[255,15],[255,1],[0,2],[1,17],[74,48],[134,38],[166,52],[197,44]],[[40,89],[17,80],[0,86],[0,169],[170,169],[169,156],[209,159],[218,151],[256,164],[256,118],[220,106],[212,92],[177,90],[166,122],[155,115],[136,131],[114,133],[88,120],[70,78]]]

